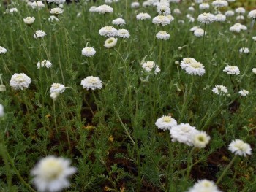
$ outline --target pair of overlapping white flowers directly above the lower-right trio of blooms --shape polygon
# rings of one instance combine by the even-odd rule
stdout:
[[[206,73],[203,64],[196,61],[195,58],[184,58],[180,65],[187,74],[203,76]]]

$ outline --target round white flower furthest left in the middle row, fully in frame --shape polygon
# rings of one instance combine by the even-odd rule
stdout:
[[[10,80],[10,86],[15,90],[29,88],[31,79],[24,73],[15,73]]]

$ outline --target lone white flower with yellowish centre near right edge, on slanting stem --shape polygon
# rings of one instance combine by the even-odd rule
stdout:
[[[228,145],[228,150],[230,150],[235,155],[244,156],[244,157],[246,155],[252,154],[251,146],[240,139],[233,140],[230,143],[230,145]]]

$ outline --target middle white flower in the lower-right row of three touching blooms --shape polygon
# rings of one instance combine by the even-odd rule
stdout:
[[[198,131],[195,127],[190,126],[189,123],[181,123],[178,126],[172,126],[170,128],[170,137],[172,142],[181,142],[189,146],[193,146],[193,135]]]

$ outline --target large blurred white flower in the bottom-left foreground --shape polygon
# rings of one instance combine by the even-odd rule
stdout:
[[[77,169],[70,166],[71,162],[65,158],[47,156],[42,158],[31,174],[34,176],[33,183],[38,191],[61,191],[69,187],[67,177],[75,174]]]

